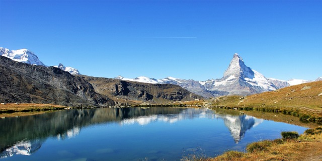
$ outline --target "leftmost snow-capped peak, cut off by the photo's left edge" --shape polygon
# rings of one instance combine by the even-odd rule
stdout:
[[[0,47],[0,55],[8,57],[15,61],[24,62],[27,64],[46,66],[43,62],[41,62],[38,59],[37,55],[35,55],[32,51],[28,49],[9,50],[9,49]]]

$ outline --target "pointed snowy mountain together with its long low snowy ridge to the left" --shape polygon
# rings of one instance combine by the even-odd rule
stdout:
[[[186,80],[174,77],[155,79],[145,76],[134,79],[122,76],[116,78],[134,82],[178,85],[207,98],[223,95],[251,95],[278,89],[278,86],[274,85],[263,74],[246,66],[244,60],[237,53],[233,55],[228,68],[220,79],[194,81],[193,79]]]

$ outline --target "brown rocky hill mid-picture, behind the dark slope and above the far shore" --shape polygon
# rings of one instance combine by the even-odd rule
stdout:
[[[97,93],[106,95],[116,102],[123,100],[124,103],[128,104],[140,102],[166,103],[169,100],[188,101],[202,98],[177,85],[146,84],[85,75],[78,77],[82,77],[91,83]]]

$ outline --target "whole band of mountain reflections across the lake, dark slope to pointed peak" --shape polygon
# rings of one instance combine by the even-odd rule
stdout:
[[[261,120],[252,116],[227,114],[228,110],[194,108],[97,108],[63,110],[31,116],[0,119],[0,158],[15,154],[30,155],[48,138],[58,140],[77,136],[83,127],[117,122],[147,125],[152,122],[175,123],[185,119],[223,119],[236,143]]]

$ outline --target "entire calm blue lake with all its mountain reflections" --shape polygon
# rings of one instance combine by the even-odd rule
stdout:
[[[207,108],[97,108],[0,119],[4,160],[180,160],[305,127]]]

